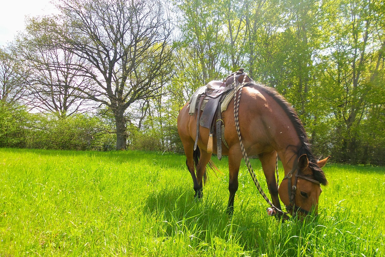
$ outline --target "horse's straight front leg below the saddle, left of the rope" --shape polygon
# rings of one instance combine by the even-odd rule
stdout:
[[[241,165],[242,155],[239,150],[229,150],[229,202],[227,205],[228,215],[234,213],[234,198],[238,190],[238,173]]]

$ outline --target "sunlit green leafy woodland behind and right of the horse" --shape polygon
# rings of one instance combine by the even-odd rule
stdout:
[[[218,29],[210,42],[222,46],[221,54],[212,55],[216,63],[225,71],[243,66],[254,80],[285,96],[305,125],[316,154],[332,155],[337,162],[384,165],[380,157],[385,144],[383,1],[176,4],[184,14],[177,65],[181,63],[180,74],[185,75],[173,81],[171,93],[177,99],[187,101],[204,84],[194,72],[204,74],[210,63],[208,58],[205,64],[199,62],[199,53],[210,46],[203,41],[206,24],[208,28],[215,24]],[[198,19],[204,15],[210,15],[206,24]]]

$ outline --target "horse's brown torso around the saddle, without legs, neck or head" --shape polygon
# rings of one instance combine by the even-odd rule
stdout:
[[[244,140],[244,145],[250,154],[271,151],[271,134],[276,128],[274,109],[278,105],[265,91],[255,87],[245,86],[242,91],[239,105],[239,126]],[[222,112],[224,122],[224,139],[229,147],[236,147],[240,151],[239,138],[234,122],[234,98]],[[183,144],[193,142],[196,138],[196,115],[189,115],[188,103],[184,105],[178,115],[178,133]],[[214,136],[215,136],[214,129]],[[199,127],[198,145],[206,150],[209,129]],[[215,138],[215,137],[214,137]],[[228,154],[228,149],[223,145],[223,155]],[[216,144],[213,152],[216,153]]]

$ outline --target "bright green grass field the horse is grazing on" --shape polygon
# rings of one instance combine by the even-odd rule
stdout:
[[[214,161],[195,201],[181,155],[0,149],[0,256],[385,255],[383,167],[328,164],[318,220],[280,223],[243,165],[230,219]]]

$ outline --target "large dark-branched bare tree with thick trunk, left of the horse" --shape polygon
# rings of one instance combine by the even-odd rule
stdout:
[[[161,1],[62,0],[62,15],[41,26],[52,47],[75,54],[75,70],[95,81],[74,87],[114,113],[116,149],[126,149],[125,111],[158,95],[172,76],[172,29]],[[73,66],[73,67],[75,67]]]

